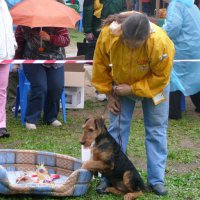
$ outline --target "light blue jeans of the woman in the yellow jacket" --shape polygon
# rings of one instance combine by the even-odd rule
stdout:
[[[154,105],[152,99],[144,98],[142,108],[145,126],[145,146],[147,157],[147,181],[149,185],[164,184],[167,160],[167,127],[169,114],[169,85],[164,89],[167,100]],[[121,113],[119,116],[110,113],[108,131],[120,143],[119,127],[122,140],[122,151],[125,152],[129,140],[130,125],[135,101],[128,97],[120,97]]]

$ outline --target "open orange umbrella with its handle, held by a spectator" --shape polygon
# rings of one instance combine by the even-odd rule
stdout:
[[[10,11],[16,25],[34,27],[75,28],[80,15],[73,9],[56,0],[24,0]],[[44,51],[42,47],[38,49]]]

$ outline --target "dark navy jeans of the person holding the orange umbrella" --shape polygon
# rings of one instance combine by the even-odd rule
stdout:
[[[37,124],[44,111],[44,122],[57,119],[64,87],[64,67],[46,68],[41,64],[24,64],[24,73],[31,83],[25,121]]]

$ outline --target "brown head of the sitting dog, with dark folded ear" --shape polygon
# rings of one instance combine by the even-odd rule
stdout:
[[[82,126],[83,133],[81,134],[80,143],[84,147],[90,147],[96,137],[106,132],[104,119],[102,117],[88,118]]]

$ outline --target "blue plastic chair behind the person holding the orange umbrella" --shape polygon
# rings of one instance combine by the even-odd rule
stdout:
[[[24,71],[22,69],[18,69],[18,74],[19,74],[19,85],[17,86],[17,92],[16,92],[14,117],[17,118],[18,112],[19,112],[18,109],[20,106],[21,107],[21,123],[22,125],[24,125],[28,93],[30,91],[30,82],[27,80],[24,74]],[[65,89],[64,88],[61,95],[61,104],[62,104],[63,121],[64,123],[66,123],[66,106],[65,106]]]

